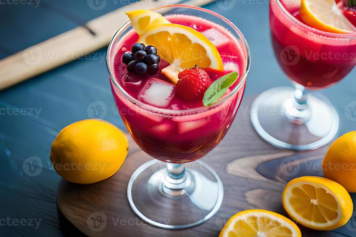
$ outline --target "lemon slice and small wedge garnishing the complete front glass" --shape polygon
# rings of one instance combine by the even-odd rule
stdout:
[[[170,64],[162,69],[163,75],[176,84],[178,73],[194,65],[224,70],[218,50],[204,34],[188,26],[164,21],[164,17],[157,14],[152,15],[150,10],[127,12],[132,27],[140,36],[138,42],[156,46],[161,58]]]

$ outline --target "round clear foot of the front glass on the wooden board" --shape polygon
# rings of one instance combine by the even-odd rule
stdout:
[[[148,161],[132,174],[127,186],[132,210],[149,224],[167,229],[189,228],[207,221],[223,201],[218,174],[197,160],[185,164],[182,182],[182,178],[171,178],[167,165],[172,164]]]

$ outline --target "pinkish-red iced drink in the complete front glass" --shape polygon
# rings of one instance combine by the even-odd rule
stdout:
[[[232,71],[238,72],[239,78],[230,87],[229,92],[241,83],[241,75],[244,75],[247,63],[246,52],[242,51],[244,45],[241,45],[241,43],[243,42],[237,41],[223,27],[200,17],[173,15],[166,16],[166,19],[172,23],[192,27],[199,32],[215,29],[223,34],[226,38],[224,38],[223,45],[217,47],[217,49],[223,59],[224,71],[209,68],[206,68],[205,71],[208,73],[211,81],[215,81]],[[140,100],[139,93],[151,81],[155,83],[156,79],[161,80],[159,83],[162,84],[162,88],[164,86],[174,86],[174,84],[170,83],[161,74],[161,70],[169,65],[163,60],[161,60],[159,71],[156,74],[143,75],[141,78],[127,72],[126,64],[121,60],[122,55],[137,40],[138,34],[134,30],[129,31],[120,39],[118,44],[121,47],[116,52],[113,68],[114,80],[130,96]],[[125,78],[127,81],[127,77],[135,77],[133,80],[136,81],[125,82]],[[166,85],[164,85],[164,82],[166,82]],[[130,99],[122,95],[113,81],[111,81],[111,85],[121,118],[124,120],[127,129],[130,131],[137,145],[150,156],[172,163],[197,160],[218,145],[234,120],[245,90],[245,82],[243,82],[239,90],[231,92],[233,95],[225,98],[229,94],[226,93],[226,96],[221,98],[222,102],[211,108],[204,108],[201,100],[184,101],[173,90],[173,95],[171,97],[168,96],[169,98],[166,99],[167,103],[160,105],[159,102],[153,102],[153,104],[158,103],[161,108],[151,110],[150,108],[132,103]]]

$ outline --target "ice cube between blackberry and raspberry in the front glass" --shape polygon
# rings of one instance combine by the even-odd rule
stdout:
[[[167,108],[174,95],[174,84],[156,78],[149,79],[138,92],[138,99],[157,106]]]

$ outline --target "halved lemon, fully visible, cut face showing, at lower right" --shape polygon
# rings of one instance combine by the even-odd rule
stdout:
[[[322,177],[293,179],[284,188],[282,203],[293,219],[314,230],[333,230],[343,226],[353,211],[346,189]]]

